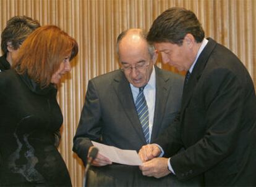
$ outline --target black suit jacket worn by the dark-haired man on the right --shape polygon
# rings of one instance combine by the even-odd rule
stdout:
[[[181,180],[205,185],[256,185],[256,97],[240,60],[212,39],[184,88],[181,116],[155,143],[185,150],[171,157]]]

